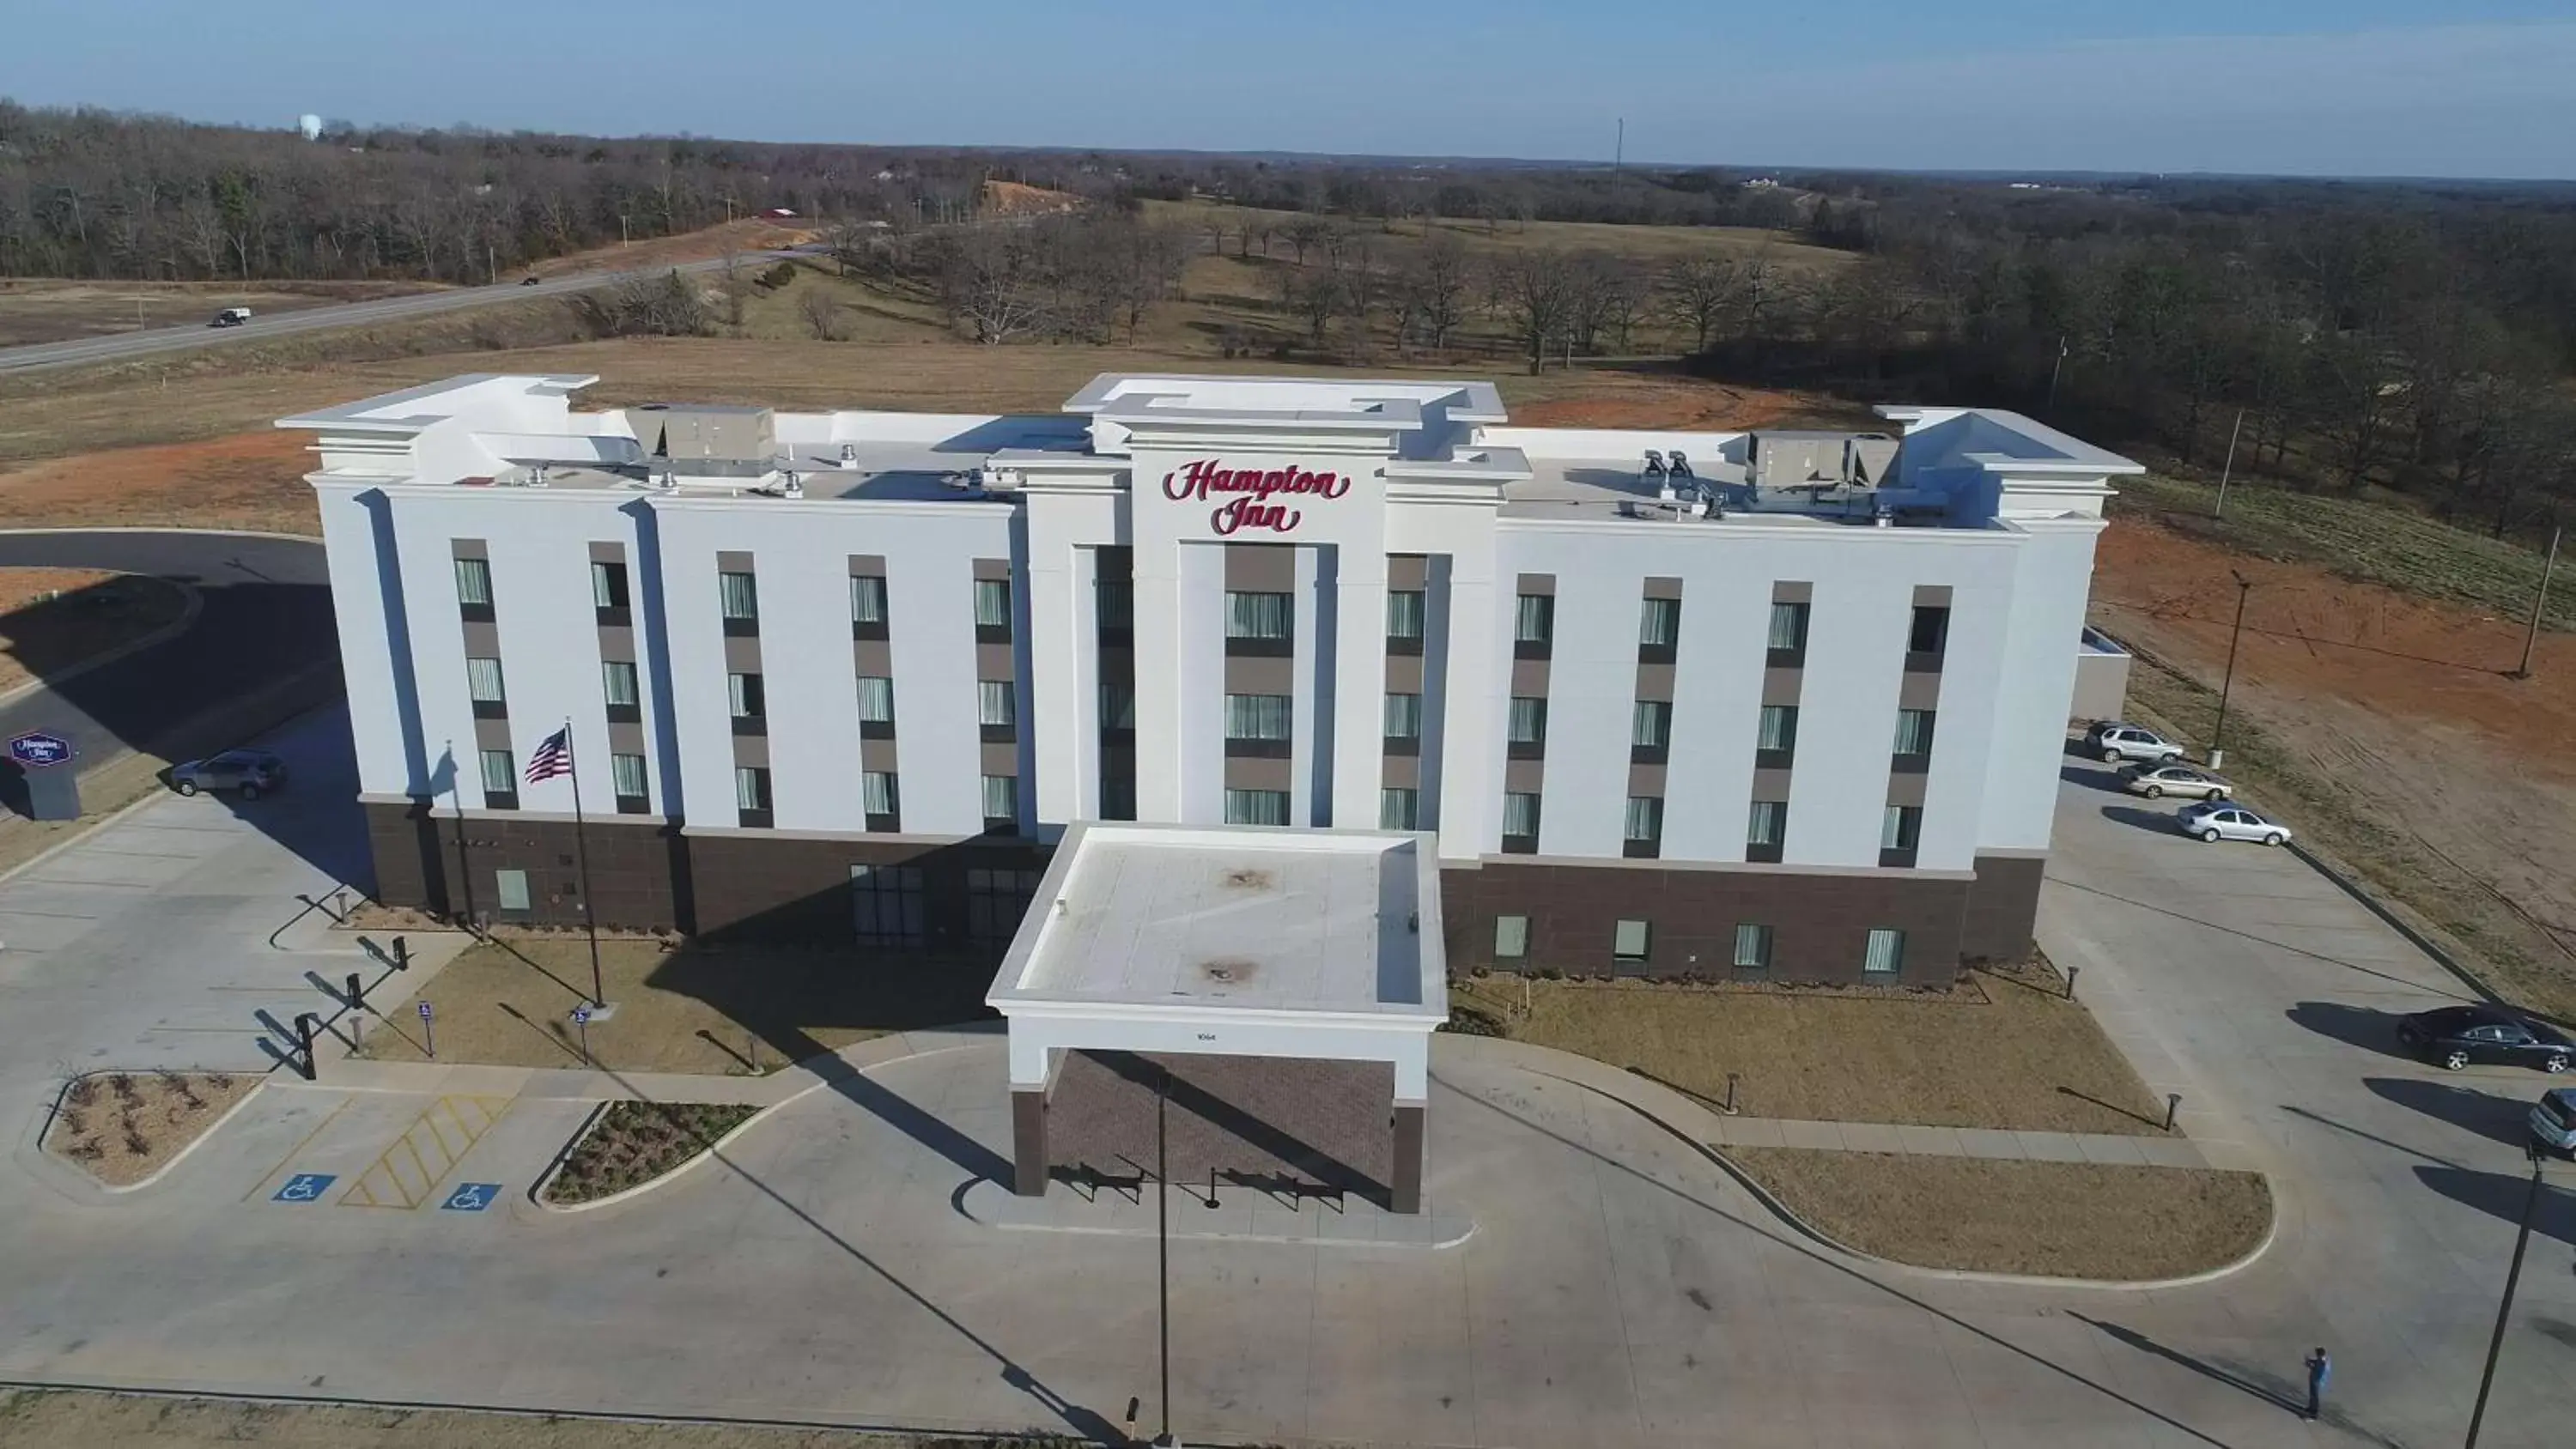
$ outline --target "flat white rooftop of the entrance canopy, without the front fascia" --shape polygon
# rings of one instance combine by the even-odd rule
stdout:
[[[1448,1019],[1432,836],[1077,824],[987,1001]],[[1090,1014],[1090,1011],[1084,1011]]]

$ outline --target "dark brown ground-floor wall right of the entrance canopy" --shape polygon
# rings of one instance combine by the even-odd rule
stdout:
[[[1775,981],[1857,983],[1873,927],[1906,932],[1896,981],[1947,986],[1960,968],[1971,883],[1911,872],[1662,870],[1486,860],[1440,872],[1453,968],[1494,965],[1494,916],[1530,919],[1530,970],[1571,975],[1698,975],[1723,981],[1736,924],[1772,929]],[[1620,919],[1654,924],[1646,963],[1613,963]]]

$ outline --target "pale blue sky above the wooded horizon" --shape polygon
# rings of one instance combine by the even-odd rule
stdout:
[[[0,95],[201,121],[2576,178],[2568,0],[8,0]]]

